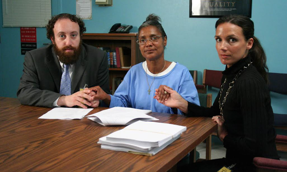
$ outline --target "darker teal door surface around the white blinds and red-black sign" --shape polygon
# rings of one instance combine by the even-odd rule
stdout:
[[[57,15],[61,12],[61,1],[52,0],[52,15]],[[59,11],[59,12],[58,12]],[[1,15],[1,81],[0,81],[0,96],[16,97],[16,92],[22,76],[24,55],[21,55],[20,44],[20,27],[2,27],[2,1],[0,8]],[[46,38],[46,28],[36,28],[37,33],[37,48],[43,47],[43,43],[50,43]]]

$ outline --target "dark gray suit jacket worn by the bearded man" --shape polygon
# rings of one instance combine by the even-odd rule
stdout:
[[[52,107],[52,103],[61,96],[61,66],[53,45],[26,52],[23,75],[17,91],[17,97],[24,105]],[[108,86],[108,59],[106,52],[82,44],[82,51],[75,63],[71,82],[71,94],[88,84],[99,85],[106,93]]]

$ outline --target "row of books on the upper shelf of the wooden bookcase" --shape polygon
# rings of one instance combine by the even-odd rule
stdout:
[[[108,66],[116,68],[130,68],[131,67],[131,48],[116,47],[115,50],[110,47],[98,47],[107,52]]]

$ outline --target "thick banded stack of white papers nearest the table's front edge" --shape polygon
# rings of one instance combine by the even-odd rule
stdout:
[[[185,126],[137,121],[99,139],[101,148],[141,155],[155,155],[186,131]]]

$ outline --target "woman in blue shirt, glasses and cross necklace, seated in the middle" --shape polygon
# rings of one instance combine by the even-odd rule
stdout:
[[[164,59],[167,36],[159,21],[158,16],[150,14],[138,30],[137,43],[146,61],[131,67],[114,95],[106,94],[99,86],[90,88],[96,92],[94,99],[103,100],[109,107],[183,114],[181,110],[167,107],[154,99],[154,90],[162,92],[163,99],[170,96],[163,89],[166,86],[177,91],[186,101],[199,105],[197,90],[188,69]]]

